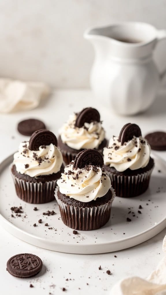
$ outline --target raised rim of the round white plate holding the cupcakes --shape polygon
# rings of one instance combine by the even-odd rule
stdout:
[[[1,161],[0,163],[0,174],[2,172],[2,169],[4,167],[6,167],[7,165],[11,164],[11,160],[13,159],[13,155],[14,153],[12,153],[11,155],[7,156],[4,160]],[[163,217],[160,222],[158,222],[157,224],[154,224],[152,227],[150,227],[149,229],[147,230],[144,230],[143,232],[141,233],[137,233],[136,235],[132,235],[130,237],[125,237],[125,238],[122,238],[122,239],[119,239],[119,240],[114,240],[114,241],[107,241],[107,242],[99,242],[99,243],[91,243],[91,244],[74,244],[74,243],[68,243],[68,242],[63,242],[60,243],[60,242],[53,242],[52,240],[50,239],[45,239],[44,237],[38,237],[34,234],[31,234],[29,232],[26,232],[25,230],[22,230],[20,229],[19,227],[17,227],[16,225],[14,225],[13,223],[11,223],[9,220],[7,220],[0,212],[0,221],[2,222],[2,224],[4,224],[4,227],[5,230],[9,233],[11,233],[12,235],[14,235],[15,237],[19,238],[20,240],[23,240],[24,242],[27,242],[27,243],[30,243],[32,245],[35,245],[37,247],[40,247],[40,248],[44,248],[44,249],[48,249],[48,250],[53,250],[53,251],[57,251],[57,252],[63,252],[63,253],[73,253],[73,254],[99,254],[99,253],[109,253],[109,252],[115,252],[115,251],[119,251],[119,250],[123,250],[123,249],[126,249],[126,248],[131,248],[133,246],[136,246],[136,245],[139,245],[147,240],[149,240],[150,238],[154,237],[155,235],[157,235],[158,233],[160,233],[165,227],[166,227],[166,215],[165,217]],[[2,225],[1,224],[1,225]],[[160,229],[158,229],[158,227],[160,227]],[[14,232],[15,233],[19,233],[18,235],[16,234],[13,234],[11,232],[11,230],[9,230],[9,228],[14,229]],[[84,232],[84,231],[81,231],[81,232]],[[148,235],[146,235],[148,233]],[[32,240],[37,240],[37,244],[36,242],[28,242],[26,239],[24,238],[21,238],[21,237],[18,237],[20,234],[23,234],[25,237],[29,237],[31,238]],[[139,237],[142,237],[142,239],[140,239],[140,241],[136,241]],[[133,243],[131,243],[131,245],[129,245],[129,242],[130,241],[133,241]],[[134,242],[135,241],[135,242]],[[38,245],[38,242],[42,242],[42,243],[46,243],[46,244],[54,244],[55,245],[55,248],[58,247],[58,245],[61,247],[61,248],[65,248],[67,247],[68,251],[62,251],[62,250],[54,250],[52,249],[52,247],[50,247],[49,245],[47,246],[42,246],[42,245]],[[121,247],[120,245],[122,243],[125,243],[126,242],[126,245],[123,245],[123,247]],[[111,246],[114,246],[118,244],[120,247],[116,247],[117,250],[109,250],[109,246],[111,248]],[[93,248],[93,251],[88,251],[86,248]],[[105,250],[102,249],[102,250],[98,250],[98,248],[103,248],[105,247]],[[78,251],[76,250],[72,250],[72,248],[76,248],[78,249]],[[86,251],[84,250],[81,250],[81,248],[85,248]],[[113,247],[114,248],[114,247]]]

